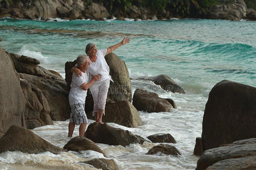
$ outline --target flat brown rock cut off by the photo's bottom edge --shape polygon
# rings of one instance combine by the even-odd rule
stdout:
[[[93,165],[95,168],[102,169],[102,170],[118,170],[118,166],[112,159],[92,159],[85,162],[85,164]]]

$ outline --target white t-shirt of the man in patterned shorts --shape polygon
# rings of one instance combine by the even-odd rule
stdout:
[[[69,104],[82,103],[85,104],[85,98],[87,96],[87,90],[82,90],[80,87],[83,83],[89,83],[89,71],[86,70],[86,73],[82,72],[82,76],[75,76],[75,73],[72,75],[72,83],[70,85],[69,92]]]

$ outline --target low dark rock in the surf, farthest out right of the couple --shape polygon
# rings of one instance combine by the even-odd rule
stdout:
[[[145,80],[145,81],[152,81],[157,85],[160,85],[163,90],[171,91],[171,92],[178,92],[179,94],[185,94],[185,91],[181,86],[179,86],[176,82],[174,82],[173,79],[171,79],[166,74],[161,74],[157,76],[141,76],[137,78],[139,80]]]

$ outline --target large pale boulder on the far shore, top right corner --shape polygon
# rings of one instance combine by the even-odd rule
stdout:
[[[233,0],[232,3],[211,6],[209,19],[241,20],[246,16],[244,0]]]

